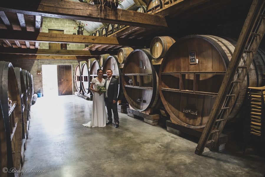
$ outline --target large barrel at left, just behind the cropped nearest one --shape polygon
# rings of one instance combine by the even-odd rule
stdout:
[[[21,97],[13,65],[4,61],[0,61],[0,101],[6,130],[6,167],[8,169],[20,169],[22,147]]]

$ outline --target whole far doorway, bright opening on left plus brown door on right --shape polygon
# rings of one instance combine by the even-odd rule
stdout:
[[[43,96],[73,94],[72,65],[42,65]]]

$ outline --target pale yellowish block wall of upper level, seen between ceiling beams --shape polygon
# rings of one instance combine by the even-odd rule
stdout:
[[[75,28],[75,21],[70,19],[59,19],[52,17],[43,17],[42,32],[49,32],[50,30],[64,30],[64,34],[77,34],[77,29]],[[83,35],[89,35],[89,33],[84,30]],[[49,49],[48,42],[40,42],[40,49]],[[85,48],[84,44],[70,44],[67,46],[68,50],[82,50]]]

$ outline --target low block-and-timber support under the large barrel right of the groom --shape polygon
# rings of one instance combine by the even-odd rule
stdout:
[[[136,111],[134,109],[127,108],[128,116],[139,119],[144,119],[144,122],[150,125],[157,125],[159,120],[159,114],[145,114],[143,112]]]

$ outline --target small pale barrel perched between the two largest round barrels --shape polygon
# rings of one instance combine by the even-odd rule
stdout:
[[[167,50],[176,41],[169,36],[154,37],[150,44],[150,52],[154,59],[163,58],[167,53]]]

